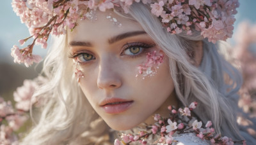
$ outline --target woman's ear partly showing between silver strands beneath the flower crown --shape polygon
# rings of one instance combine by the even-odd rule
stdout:
[[[195,48],[194,48],[194,61],[195,66],[199,67],[204,55],[204,49],[203,49],[203,41],[197,41]]]

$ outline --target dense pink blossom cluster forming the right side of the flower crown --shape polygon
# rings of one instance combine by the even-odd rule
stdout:
[[[209,42],[216,43],[231,38],[239,3],[238,0],[163,0],[150,6],[168,32],[186,31],[191,35],[191,30],[195,29]]]

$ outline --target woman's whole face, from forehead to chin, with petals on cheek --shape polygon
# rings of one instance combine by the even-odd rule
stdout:
[[[96,16],[68,32],[70,55],[93,109],[109,127],[127,130],[150,120],[166,102],[173,104],[168,59],[138,22],[110,11]]]

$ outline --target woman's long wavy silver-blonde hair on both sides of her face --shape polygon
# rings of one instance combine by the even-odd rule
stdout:
[[[241,139],[234,114],[241,76],[221,57],[218,47],[198,33],[187,36],[166,32],[144,4],[132,4],[130,13],[169,57],[175,92],[183,106],[198,102],[198,119],[204,123],[212,120],[217,133]],[[193,60],[198,41],[203,41],[204,51],[199,67]],[[49,82],[35,93],[35,97],[47,98],[42,114],[23,144],[113,144],[108,143],[109,127],[86,100],[72,76],[73,69],[67,36],[60,36],[44,61],[42,72]]]

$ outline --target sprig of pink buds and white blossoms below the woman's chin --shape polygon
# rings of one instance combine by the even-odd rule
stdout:
[[[140,131],[139,134],[122,134],[121,140],[116,139],[115,145],[130,144],[131,142],[138,142],[140,144],[147,144],[150,135],[159,135],[158,139],[154,139],[154,144],[172,144],[179,142],[175,140],[175,135],[184,134],[185,132],[193,133],[202,140],[211,141],[212,144],[234,144],[242,143],[245,141],[232,141],[228,137],[221,137],[217,134],[214,136],[214,128],[212,122],[207,121],[205,128],[202,121],[195,120],[191,117],[190,111],[195,109],[197,102],[192,102],[189,107],[179,108],[168,106],[171,111],[169,118],[162,118],[160,114],[154,115],[156,123],[149,125],[146,130]],[[152,138],[150,138],[152,139]]]

